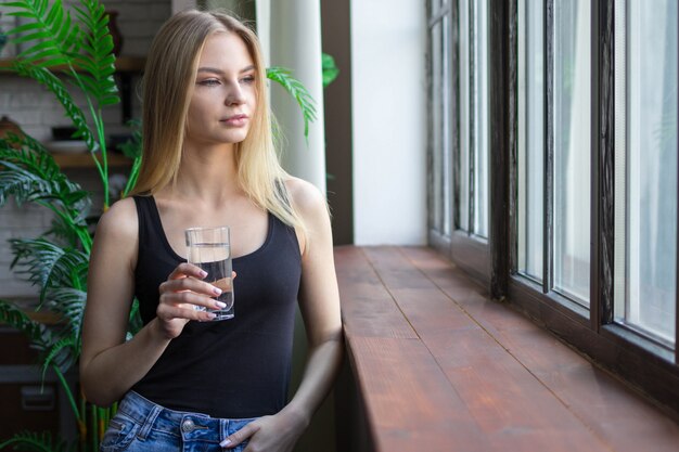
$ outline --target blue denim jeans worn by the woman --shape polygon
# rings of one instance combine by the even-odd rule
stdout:
[[[108,424],[100,450],[102,452],[222,452],[219,445],[255,418],[220,419],[206,414],[168,410],[129,391]],[[242,442],[232,452],[241,452]]]

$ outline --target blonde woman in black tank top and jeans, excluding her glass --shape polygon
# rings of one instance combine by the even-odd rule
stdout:
[[[95,404],[123,399],[102,450],[291,451],[337,373],[342,325],[325,201],[278,163],[255,35],[172,16],[149,52],[143,127],[136,195],[103,215],[90,262],[80,380]],[[235,318],[210,322],[195,308],[219,290],[185,262],[183,231],[222,224]],[[126,341],[134,296],[144,326]],[[309,356],[287,401],[296,300]]]

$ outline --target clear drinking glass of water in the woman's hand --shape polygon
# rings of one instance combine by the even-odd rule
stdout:
[[[233,281],[231,277],[231,244],[229,227],[190,228],[184,231],[189,263],[207,272],[203,281],[221,289],[217,300],[226,304],[222,309],[206,309],[196,306],[196,310],[214,313],[213,320],[233,319]]]

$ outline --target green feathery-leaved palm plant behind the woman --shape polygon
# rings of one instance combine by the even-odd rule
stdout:
[[[108,33],[108,16],[99,0],[79,0],[73,11],[62,0],[17,0],[0,5],[0,13],[23,18],[23,25],[8,30],[11,42],[24,50],[7,70],[40,83],[62,105],[77,138],[87,147],[99,173],[104,195],[102,210],[111,204],[106,134],[103,111],[119,102],[114,80],[115,56]],[[74,15],[72,15],[72,12]],[[307,90],[284,68],[269,68],[267,76],[281,83],[297,101],[305,124],[316,119],[313,101]],[[84,107],[74,94],[84,99]],[[305,128],[305,134],[308,127]],[[137,181],[141,164],[141,137],[124,146],[131,158],[125,196]],[[91,193],[71,181],[51,154],[28,135],[10,134],[0,139],[0,207],[13,198],[17,205],[33,203],[53,212],[52,227],[40,237],[11,240],[17,277],[39,287],[37,310],[52,312],[62,320],[48,327],[31,320],[11,300],[0,299],[0,321],[23,332],[41,352],[43,377],[56,375],[78,425],[78,441],[66,443],[50,434],[17,432],[0,442],[0,449],[35,451],[97,450],[113,409],[93,406],[72,390],[66,372],[80,356],[80,326],[87,298],[87,268],[92,236],[88,218]],[[132,310],[130,334],[139,326]]]

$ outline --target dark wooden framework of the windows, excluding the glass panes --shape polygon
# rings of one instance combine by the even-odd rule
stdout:
[[[549,99],[553,80],[550,62],[553,55],[552,17],[555,0],[546,0],[546,104],[545,132],[548,143],[553,139],[550,125],[553,117],[553,100]],[[459,25],[456,1],[450,2],[451,52],[459,62]],[[571,301],[545,287],[551,281],[536,284],[518,274],[517,268],[517,152],[518,152],[518,30],[517,0],[489,2],[490,42],[490,223],[488,243],[479,243],[467,233],[451,231],[443,237],[430,228],[430,244],[448,256],[473,277],[488,285],[495,299],[504,299],[527,315],[536,319],[566,343],[588,354],[598,364],[615,372],[646,395],[679,413],[679,299],[676,300],[676,340],[670,350],[613,319],[614,295],[614,3],[615,0],[591,2],[591,206],[590,206],[590,307]],[[679,17],[678,17],[679,23]],[[453,66],[457,67],[457,66]],[[452,125],[459,125],[459,81],[453,77]],[[472,72],[473,74],[473,72]],[[459,129],[452,129],[453,162],[459,156]],[[548,144],[551,145],[551,144]],[[428,147],[428,151],[433,150]],[[551,167],[546,155],[546,168]],[[454,165],[454,163],[453,163]],[[459,167],[458,167],[459,168]],[[550,193],[550,171],[546,170],[546,191]],[[679,175],[679,165],[677,168]],[[553,175],[551,175],[553,177]],[[453,172],[453,192],[459,193],[457,172]],[[678,184],[679,186],[679,184]],[[451,202],[457,202],[454,199]],[[546,203],[552,196],[546,196]],[[678,188],[679,205],[679,188]],[[451,209],[456,211],[454,206]],[[549,212],[550,210],[546,210]],[[679,208],[678,224],[679,224]],[[454,214],[453,214],[454,216]],[[551,269],[553,217],[546,215],[545,273]],[[457,223],[453,223],[457,224]],[[431,225],[431,223],[430,223]],[[679,234],[679,232],[678,232]],[[679,259],[679,250],[677,251]],[[679,281],[679,266],[677,270]],[[677,290],[679,298],[679,289]]]

